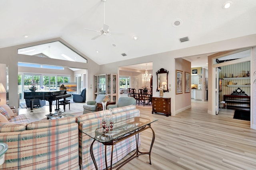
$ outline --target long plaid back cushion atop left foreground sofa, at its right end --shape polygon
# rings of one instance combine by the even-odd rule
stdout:
[[[64,117],[60,119],[40,120],[40,121],[34,121],[29,123],[27,125],[27,129],[28,130],[41,129],[41,128],[47,128],[47,127],[66,125],[74,122],[76,122],[76,117]]]

